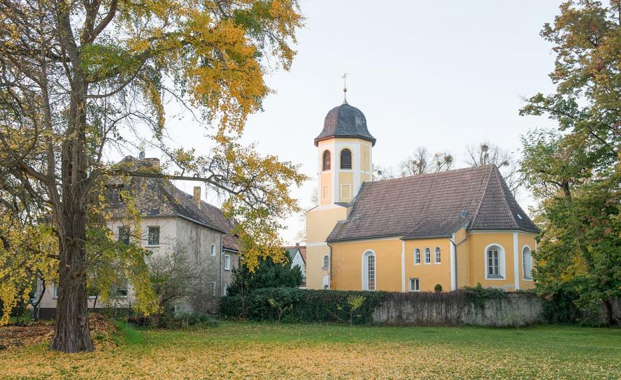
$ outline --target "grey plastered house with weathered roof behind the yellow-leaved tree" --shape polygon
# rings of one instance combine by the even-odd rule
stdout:
[[[124,165],[159,166],[158,159],[125,157]],[[138,234],[134,221],[128,219],[123,193],[132,193],[133,202],[140,214]],[[216,312],[220,296],[227,293],[232,282],[232,272],[238,265],[240,246],[229,232],[234,224],[224,217],[222,210],[201,200],[201,187],[194,187],[192,195],[181,191],[169,180],[132,177],[124,182],[115,179],[106,185],[106,200],[112,213],[108,228],[119,240],[138,235],[142,247],[152,251],[146,258],[151,267],[162,258],[182,255],[191,268],[195,280],[192,291],[175,302],[176,312]],[[131,232],[131,233],[130,233]],[[166,256],[168,255],[168,256]],[[41,286],[39,286],[41,288]],[[97,294],[90,294],[90,309],[103,307],[131,307],[133,291],[125,284],[115,289],[110,305],[103,305]],[[40,316],[52,318],[55,314],[57,287],[45,288],[41,299]]]

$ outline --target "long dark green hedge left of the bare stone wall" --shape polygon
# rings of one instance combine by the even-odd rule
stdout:
[[[245,297],[222,297],[220,314],[226,318],[277,321],[278,309],[271,305],[276,303],[282,311],[280,321],[283,322],[373,323],[373,310],[389,294],[382,291],[264,288]],[[354,297],[364,298],[362,305],[356,307],[355,315],[350,305]]]

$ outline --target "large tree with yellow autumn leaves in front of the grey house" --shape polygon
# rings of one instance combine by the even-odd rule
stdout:
[[[287,189],[304,176],[238,138],[270,91],[266,59],[290,68],[303,22],[296,0],[6,0],[0,15],[1,174],[42,198],[58,240],[51,349],[94,349],[87,230],[102,227],[89,207],[105,175],[200,180],[227,194],[224,208],[239,221],[251,267],[258,255],[282,254],[278,218],[297,211]],[[171,145],[168,99],[200,115],[213,152]],[[160,149],[172,173],[106,163],[112,149],[127,152],[136,141]]]

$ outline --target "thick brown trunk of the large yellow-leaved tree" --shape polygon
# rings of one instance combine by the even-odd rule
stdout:
[[[50,349],[94,351],[86,293],[87,164],[85,80],[76,78],[69,105],[69,134],[62,148],[62,205],[55,214],[59,237],[59,295]]]

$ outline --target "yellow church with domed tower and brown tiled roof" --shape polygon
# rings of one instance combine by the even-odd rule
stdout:
[[[315,138],[317,205],[306,213],[307,288],[534,287],[539,229],[496,166],[373,181],[375,145],[346,100],[326,115]]]

